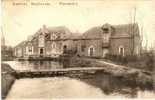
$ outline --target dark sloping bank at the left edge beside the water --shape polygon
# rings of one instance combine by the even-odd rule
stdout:
[[[1,63],[1,72],[2,72],[2,80],[1,80],[1,92],[2,99],[6,98],[11,86],[16,80],[15,76],[12,74],[15,72],[11,66],[5,63]]]

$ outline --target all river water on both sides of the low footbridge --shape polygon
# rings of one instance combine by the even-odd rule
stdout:
[[[53,61],[10,61],[6,62],[16,70],[52,70],[63,68]],[[91,78],[69,77],[17,79],[6,99],[50,99],[50,98],[155,98],[153,91],[140,90],[125,80],[95,74]]]

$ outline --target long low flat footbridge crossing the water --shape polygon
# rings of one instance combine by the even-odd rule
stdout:
[[[89,76],[98,72],[105,73],[105,69],[102,67],[85,67],[85,68],[78,67],[78,68],[52,69],[42,71],[16,70],[15,76],[17,78],[37,78],[37,77],[55,77],[55,76],[69,76],[69,77],[81,78],[81,76],[83,75]]]

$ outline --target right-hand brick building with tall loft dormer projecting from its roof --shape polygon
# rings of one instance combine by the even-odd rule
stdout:
[[[141,50],[138,24],[93,27],[84,32],[78,42],[81,56],[139,55]]]

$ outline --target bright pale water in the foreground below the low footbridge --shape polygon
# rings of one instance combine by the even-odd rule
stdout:
[[[111,97],[125,97],[111,94]],[[67,77],[16,80],[7,99],[105,98],[110,97],[98,87]]]

